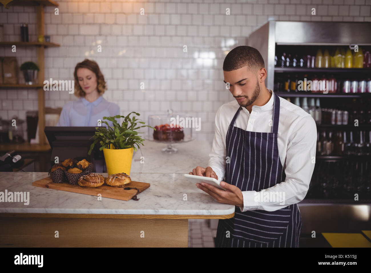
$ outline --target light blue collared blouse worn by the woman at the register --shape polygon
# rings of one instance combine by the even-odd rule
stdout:
[[[106,101],[102,96],[89,103],[85,98],[66,103],[57,123],[57,126],[98,126],[98,120],[103,117],[112,117],[120,114],[117,104]],[[116,119],[119,121],[119,119]],[[105,120],[107,121],[107,120]],[[108,122],[112,126],[112,122]],[[106,126],[104,123],[102,126]]]

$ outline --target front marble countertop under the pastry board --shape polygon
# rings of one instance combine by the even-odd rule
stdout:
[[[102,175],[106,177],[107,173]],[[97,196],[32,186],[32,182],[47,176],[46,172],[1,173],[0,192],[29,192],[29,205],[0,202],[0,213],[228,215],[235,208],[217,202],[183,173],[130,173],[132,180],[151,184],[138,194],[139,201],[104,197],[98,201]],[[187,201],[183,200],[184,194]]]

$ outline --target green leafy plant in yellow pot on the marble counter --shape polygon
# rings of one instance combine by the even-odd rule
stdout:
[[[130,115],[135,113],[139,116],[139,113],[131,112],[126,117],[125,116],[114,116],[114,117],[103,117],[104,120],[112,121],[113,127],[109,126],[108,121],[102,121],[108,127],[96,127],[96,131],[92,139],[93,143],[90,146],[88,155],[91,154],[96,143],[100,143],[101,147],[99,150],[103,150],[104,159],[106,161],[108,175],[114,173],[124,172],[130,175],[131,161],[133,158],[134,150],[137,151],[135,145],[139,147],[139,144],[143,144],[144,139],[142,139],[138,134],[142,132],[137,132],[136,130],[142,127],[151,127],[145,124],[144,121],[139,121],[140,119]],[[124,118],[121,125],[117,123],[116,118]],[[138,124],[140,123],[140,124]],[[151,127],[156,130],[155,128]]]

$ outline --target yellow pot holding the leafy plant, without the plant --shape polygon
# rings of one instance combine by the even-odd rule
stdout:
[[[114,149],[112,144],[110,147],[111,149],[103,149],[108,175],[120,172],[130,175],[134,149]]]

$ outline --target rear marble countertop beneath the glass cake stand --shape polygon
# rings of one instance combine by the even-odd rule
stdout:
[[[130,172],[133,173],[189,173],[197,166],[206,168],[211,145],[206,140],[192,140],[173,144],[177,153],[162,153],[167,144],[146,140],[145,146],[134,152]],[[143,160],[141,160],[143,156]],[[144,163],[141,163],[144,162]]]

